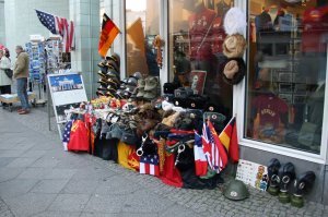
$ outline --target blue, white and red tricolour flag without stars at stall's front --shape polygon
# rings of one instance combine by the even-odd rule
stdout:
[[[196,176],[203,177],[208,172],[208,160],[202,149],[202,138],[197,132],[195,132],[194,153]]]

